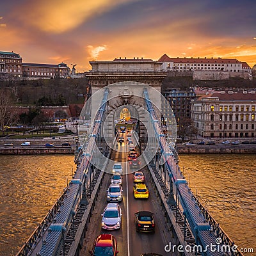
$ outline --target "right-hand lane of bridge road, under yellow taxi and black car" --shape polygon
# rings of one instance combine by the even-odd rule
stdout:
[[[132,173],[128,175],[128,196],[129,196],[129,222],[130,224],[130,255],[140,255],[140,253],[154,252],[166,255],[164,246],[166,246],[169,234],[167,228],[161,225],[161,221],[164,221],[163,212],[159,209],[159,202],[157,202],[156,195],[154,195],[154,189],[149,182],[147,171],[143,170],[146,177],[146,185],[149,190],[148,199],[135,199],[133,196],[133,179]],[[134,222],[134,212],[136,211],[151,211],[154,213],[154,220],[156,223],[155,233],[136,232]],[[170,255],[170,254],[169,254]]]

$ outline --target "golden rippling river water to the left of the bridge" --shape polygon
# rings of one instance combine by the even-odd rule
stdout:
[[[0,255],[15,255],[72,177],[74,156],[0,156]],[[74,169],[75,170],[75,169]]]

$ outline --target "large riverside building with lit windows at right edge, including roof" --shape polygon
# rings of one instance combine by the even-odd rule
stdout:
[[[256,91],[209,93],[191,102],[191,120],[204,138],[255,138]]]

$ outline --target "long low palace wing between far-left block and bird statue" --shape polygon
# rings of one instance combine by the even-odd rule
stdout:
[[[65,63],[54,64],[38,64],[38,63],[22,63],[22,75],[24,77],[36,78],[65,78],[70,76],[70,68]]]

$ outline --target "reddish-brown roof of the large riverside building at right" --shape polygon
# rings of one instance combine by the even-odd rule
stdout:
[[[237,101],[237,100],[255,100],[256,101],[256,93],[255,91],[247,92],[247,91],[220,91],[220,92],[212,92],[207,95],[203,95],[198,98],[197,101],[202,101],[204,99],[216,99],[218,98],[220,101]]]

